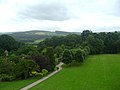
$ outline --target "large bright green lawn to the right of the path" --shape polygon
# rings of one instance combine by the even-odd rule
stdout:
[[[89,56],[31,90],[120,90],[120,55]]]

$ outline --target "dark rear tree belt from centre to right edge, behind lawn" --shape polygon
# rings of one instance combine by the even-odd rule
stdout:
[[[70,34],[67,36],[52,37],[40,42],[38,48],[57,47],[64,45],[66,49],[80,48],[81,46],[89,47],[89,54],[104,54],[104,53],[120,53],[119,43],[120,32],[100,32],[93,33],[89,30],[84,30],[81,35]],[[117,47],[118,46],[118,47]]]

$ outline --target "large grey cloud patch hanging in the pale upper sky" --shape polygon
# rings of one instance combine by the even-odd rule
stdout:
[[[71,18],[70,12],[64,4],[46,3],[29,6],[20,14],[25,18],[37,20],[64,21]]]

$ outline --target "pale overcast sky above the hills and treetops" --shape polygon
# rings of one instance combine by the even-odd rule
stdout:
[[[120,31],[120,0],[0,0],[0,32]]]

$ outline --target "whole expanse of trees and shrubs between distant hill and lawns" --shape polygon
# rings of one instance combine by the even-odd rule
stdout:
[[[37,46],[16,41],[9,35],[0,36],[0,79],[12,81],[46,76],[57,69],[59,62],[84,63],[88,55],[120,53],[120,32],[53,36]]]

